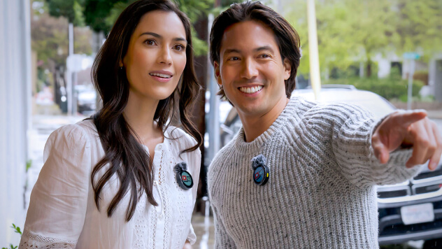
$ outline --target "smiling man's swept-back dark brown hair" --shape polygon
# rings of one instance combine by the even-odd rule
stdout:
[[[287,98],[290,99],[296,84],[295,78],[298,72],[299,59],[301,59],[299,35],[284,17],[259,1],[233,3],[230,8],[213,20],[211,30],[212,65],[213,62],[220,62],[221,41],[227,27],[237,22],[245,22],[249,20],[262,22],[273,30],[276,42],[278,43],[280,55],[283,58],[283,63],[285,58],[290,61],[292,66],[290,77],[285,80],[285,94],[287,95]],[[218,95],[226,97],[222,88],[220,88]]]

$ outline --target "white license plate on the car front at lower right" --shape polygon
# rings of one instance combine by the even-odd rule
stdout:
[[[433,204],[418,204],[401,207],[401,218],[405,225],[434,221]]]

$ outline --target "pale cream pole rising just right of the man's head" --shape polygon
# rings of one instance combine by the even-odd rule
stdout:
[[[318,52],[318,32],[316,29],[315,0],[307,0],[307,20],[308,20],[308,53],[310,56],[310,78],[311,87],[315,94],[315,99],[320,99],[321,77],[319,67]]]

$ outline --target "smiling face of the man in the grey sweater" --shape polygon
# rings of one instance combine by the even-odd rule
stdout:
[[[285,101],[290,62],[280,55],[275,35],[261,22],[245,21],[224,31],[215,75],[227,99],[243,117],[261,117]]]

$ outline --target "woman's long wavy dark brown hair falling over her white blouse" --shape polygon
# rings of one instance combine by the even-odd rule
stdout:
[[[126,211],[126,220],[131,220],[136,204],[143,192],[146,193],[150,204],[157,206],[152,195],[153,165],[149,155],[145,152],[134,130],[124,120],[123,111],[129,99],[129,81],[126,72],[120,69],[119,62],[126,55],[129,40],[134,33],[141,17],[152,10],[173,12],[183,22],[187,47],[186,65],[180,83],[171,96],[159,101],[154,120],[157,127],[163,131],[169,125],[169,120],[179,112],[179,119],[183,129],[190,134],[197,144],[183,152],[196,150],[201,145],[201,135],[190,121],[187,111],[192,101],[201,89],[195,76],[192,37],[190,21],[178,7],[167,0],[141,0],[131,3],[122,11],[115,22],[108,38],[92,66],[92,80],[103,101],[103,108],[92,115],[92,120],[103,145],[105,155],[92,170],[92,187],[95,193],[95,204],[100,210],[100,193],[108,180],[116,173],[120,180],[120,189],[113,197],[107,209],[108,217],[113,214],[122,198],[130,192],[130,200]],[[95,176],[106,164],[109,168],[97,181]],[[138,185],[138,187],[137,187]]]

